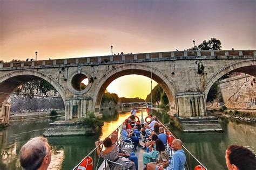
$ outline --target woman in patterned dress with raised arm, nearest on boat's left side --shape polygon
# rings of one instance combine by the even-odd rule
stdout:
[[[104,157],[106,159],[109,159],[113,162],[117,162],[119,164],[122,164],[124,166],[125,169],[135,169],[135,164],[134,162],[130,161],[130,160],[126,160],[124,158],[119,158],[118,157],[118,148],[115,145],[112,145],[112,141],[109,137],[105,138],[105,140],[103,141],[103,145],[105,147],[105,150],[100,152],[99,149],[99,145],[100,145],[100,141],[96,141],[95,145],[97,147],[97,154],[100,157]],[[122,169],[123,166],[118,165],[118,164],[113,164],[111,162],[108,162],[110,169]]]

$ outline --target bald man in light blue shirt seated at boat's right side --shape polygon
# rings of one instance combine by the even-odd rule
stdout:
[[[159,169],[167,170],[183,170],[186,162],[186,155],[182,149],[182,142],[179,139],[174,139],[172,141],[172,148],[174,151],[171,160],[167,161],[165,164],[160,165]]]

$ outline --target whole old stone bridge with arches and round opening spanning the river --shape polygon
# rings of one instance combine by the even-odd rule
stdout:
[[[151,72],[167,94],[171,112],[181,117],[206,116],[208,91],[221,76],[229,72],[256,76],[256,51],[177,51],[0,63],[0,118],[8,121],[6,101],[18,86],[31,80],[44,79],[58,90],[68,120],[86,111],[99,115],[104,91],[118,77],[151,77]],[[80,90],[86,77],[89,84]]]

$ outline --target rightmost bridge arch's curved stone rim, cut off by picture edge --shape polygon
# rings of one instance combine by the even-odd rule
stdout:
[[[242,60],[239,62],[232,63],[225,68],[219,69],[217,73],[215,73],[212,77],[210,77],[209,81],[207,81],[205,86],[205,100],[207,98],[208,92],[212,87],[213,83],[216,82],[220,77],[224,76],[229,72],[240,72],[252,75],[256,77],[256,60]]]

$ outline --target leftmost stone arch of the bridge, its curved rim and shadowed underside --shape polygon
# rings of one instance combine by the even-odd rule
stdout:
[[[5,74],[0,77],[0,117],[4,116],[4,105],[13,91],[21,85],[31,80],[44,79],[48,81],[60,94],[65,104],[65,90],[58,82],[56,82],[51,76],[46,75],[38,70],[16,70],[14,72]]]

